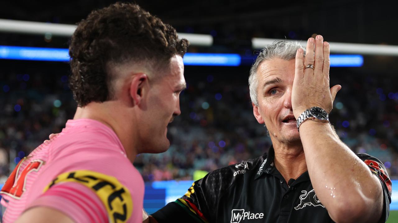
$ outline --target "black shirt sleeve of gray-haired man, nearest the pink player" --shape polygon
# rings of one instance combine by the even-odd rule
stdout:
[[[152,217],[159,223],[213,222],[218,199],[233,181],[231,166],[212,171],[195,181],[181,198],[156,211]]]

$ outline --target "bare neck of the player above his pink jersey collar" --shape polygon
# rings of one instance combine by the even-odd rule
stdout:
[[[133,137],[134,129],[129,128],[131,125],[124,124],[128,119],[120,111],[121,109],[115,101],[91,102],[84,107],[78,107],[73,119],[94,119],[111,128],[123,145],[127,158],[133,163],[137,156],[135,149],[137,146],[134,144],[136,140]]]

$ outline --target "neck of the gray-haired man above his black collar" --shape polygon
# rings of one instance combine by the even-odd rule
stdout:
[[[286,182],[289,179],[297,179],[307,171],[304,150],[301,142],[292,144],[273,143],[275,151],[274,163]]]

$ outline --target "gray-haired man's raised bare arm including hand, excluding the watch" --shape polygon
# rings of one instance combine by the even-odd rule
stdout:
[[[341,86],[329,89],[329,54],[322,36],[308,40],[305,58],[302,50],[297,51],[292,89],[296,118],[313,106],[332,110]],[[304,65],[314,65],[314,69],[304,70]],[[383,208],[377,176],[341,142],[329,123],[307,120],[299,132],[312,186],[330,217],[336,222],[377,222]]]

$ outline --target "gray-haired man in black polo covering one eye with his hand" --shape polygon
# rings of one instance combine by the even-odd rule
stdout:
[[[277,41],[250,70],[253,113],[269,152],[212,171],[150,222],[385,222],[391,181],[377,158],[354,154],[329,123],[340,85],[329,88],[330,49]]]

